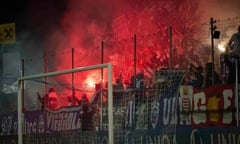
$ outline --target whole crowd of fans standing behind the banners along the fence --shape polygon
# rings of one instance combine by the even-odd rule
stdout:
[[[240,26],[235,37],[238,36],[240,37]],[[232,44],[232,41],[233,40],[231,39],[229,45]],[[239,43],[234,49],[238,53],[240,51]],[[132,76],[128,83],[123,83],[122,77],[120,76],[116,79],[113,85],[114,106],[119,105],[126,90],[130,90],[128,91],[131,95],[129,101],[133,101],[135,106],[139,106],[138,104],[143,104],[147,101],[147,97],[152,96],[154,99],[154,97],[161,94],[171,94],[171,92],[176,91],[176,88],[178,88],[180,84],[191,85],[196,89],[205,89],[218,84],[233,85],[236,82],[236,63],[239,65],[238,59],[238,56],[232,55],[231,53],[228,53],[228,51],[223,54],[222,65],[226,66],[224,67],[224,71],[226,72],[226,77],[224,78],[219,76],[219,73],[216,71],[212,63],[206,63],[205,67],[202,65],[189,64],[187,71],[185,71],[185,75],[180,76],[184,76],[182,81],[179,76],[169,78],[169,73],[164,72],[166,69],[155,71],[154,76],[148,80],[146,80],[143,72],[138,73],[136,76]],[[238,81],[240,81],[239,74],[240,70],[238,70]],[[174,81],[174,79],[178,79],[179,81]],[[86,94],[83,94],[81,99],[78,99],[75,90],[73,90],[72,95],[67,98],[71,106],[82,107],[80,115],[82,120],[82,130],[91,130],[94,128],[91,124],[93,123],[94,114],[99,110],[99,107],[97,108],[96,105],[99,105],[99,100],[102,95],[106,97],[107,92],[106,88],[103,88],[103,85],[100,84],[98,85],[91,101],[89,101]],[[48,93],[43,97],[41,97],[39,93],[37,93],[37,96],[42,105],[42,111],[46,109],[56,110],[59,108],[57,102],[58,98],[54,88],[50,88]]]

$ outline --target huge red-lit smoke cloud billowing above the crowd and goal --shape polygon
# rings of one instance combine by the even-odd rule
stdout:
[[[221,38],[216,42],[226,43],[240,23],[239,5],[238,0],[34,1],[28,14],[29,27],[34,33],[31,38],[42,43],[31,44],[31,49],[46,52],[48,71],[56,71],[72,67],[72,48],[74,67],[101,63],[103,41],[104,62],[113,63],[114,78],[123,74],[129,80],[133,74],[134,34],[137,35],[138,72],[151,75],[154,69],[168,66],[170,26],[175,58],[179,58],[173,61],[174,66],[187,61],[204,64],[210,51],[202,43],[210,44],[210,18],[216,19],[217,30],[221,31]],[[154,59],[161,66],[155,65]],[[43,57],[39,60],[43,61]],[[87,76],[80,79],[86,80]],[[64,81],[71,84],[71,79]]]

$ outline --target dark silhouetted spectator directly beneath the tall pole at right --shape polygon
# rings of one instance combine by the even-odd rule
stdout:
[[[221,83],[218,73],[215,70],[214,70],[214,73],[212,73],[212,68],[213,68],[212,63],[206,64],[205,88],[208,88],[213,84],[215,85],[215,84]],[[213,79],[214,79],[214,83],[213,83]]]

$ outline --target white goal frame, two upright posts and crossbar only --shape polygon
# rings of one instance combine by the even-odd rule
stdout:
[[[30,76],[24,76],[20,77],[18,79],[18,144],[23,143],[23,83],[25,80],[32,80],[32,79],[38,79],[38,78],[44,78],[44,77],[51,77],[56,75],[63,75],[63,74],[71,74],[74,72],[81,72],[81,71],[87,71],[87,70],[94,70],[94,69],[100,69],[100,68],[107,68],[107,107],[108,107],[108,143],[113,144],[114,143],[114,131],[113,131],[113,87],[112,87],[112,64],[106,63],[106,64],[98,64],[98,65],[92,65],[92,66],[85,66],[85,67],[78,67],[68,70],[62,70],[62,71],[55,71],[55,72],[48,72],[48,73],[40,73]]]

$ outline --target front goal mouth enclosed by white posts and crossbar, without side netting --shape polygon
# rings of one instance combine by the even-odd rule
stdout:
[[[19,144],[114,143],[111,64],[25,76],[18,83]]]

